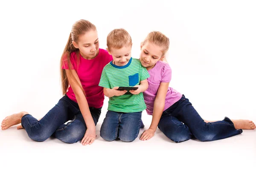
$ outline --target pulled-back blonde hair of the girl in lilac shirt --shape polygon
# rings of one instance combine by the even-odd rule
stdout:
[[[148,34],[148,36],[143,41],[143,45],[147,42],[151,42],[155,45],[158,45],[162,48],[162,56],[166,54],[169,50],[170,40],[166,35],[159,31],[152,31]]]

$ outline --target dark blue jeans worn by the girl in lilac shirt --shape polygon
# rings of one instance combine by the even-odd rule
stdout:
[[[222,121],[204,122],[184,95],[163,111],[158,127],[174,142],[183,142],[192,137],[200,141],[214,141],[243,132],[241,129],[236,130],[233,122],[227,117]]]

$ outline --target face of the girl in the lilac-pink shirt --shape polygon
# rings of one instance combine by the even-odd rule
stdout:
[[[158,45],[155,45],[149,41],[145,42],[145,44],[141,44],[140,46],[141,52],[140,52],[140,62],[143,65],[143,67],[147,68],[147,70],[150,70],[154,67],[154,65],[162,59],[162,48]]]

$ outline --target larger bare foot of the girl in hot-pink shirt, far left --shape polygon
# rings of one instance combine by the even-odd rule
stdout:
[[[11,116],[7,116],[5,119],[3,119],[1,123],[2,130],[6,130],[13,125],[17,125],[21,123],[21,118],[25,114],[28,114],[28,113],[23,111],[20,113],[12,114]]]

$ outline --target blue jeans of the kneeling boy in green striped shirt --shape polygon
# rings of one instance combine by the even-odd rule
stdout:
[[[117,137],[124,142],[134,141],[140,132],[141,114],[108,111],[100,128],[100,136],[106,141],[116,140]]]

